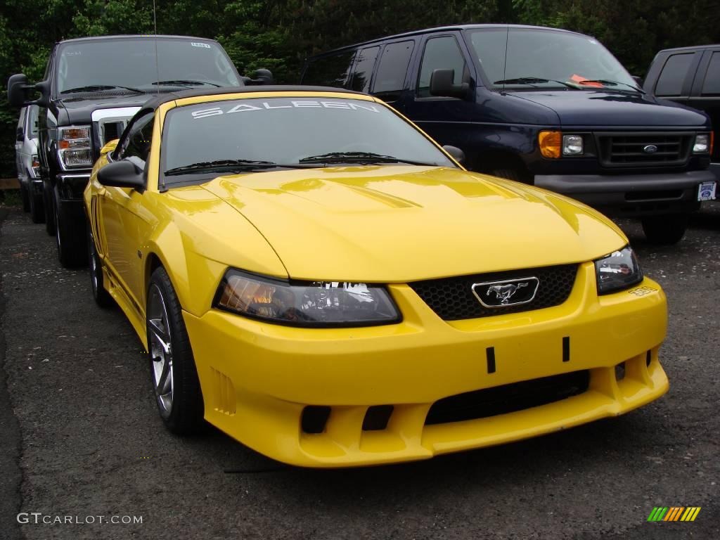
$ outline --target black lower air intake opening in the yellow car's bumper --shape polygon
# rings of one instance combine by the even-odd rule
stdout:
[[[589,385],[590,372],[585,369],[444,397],[433,403],[425,424],[432,426],[514,413],[580,395]]]

